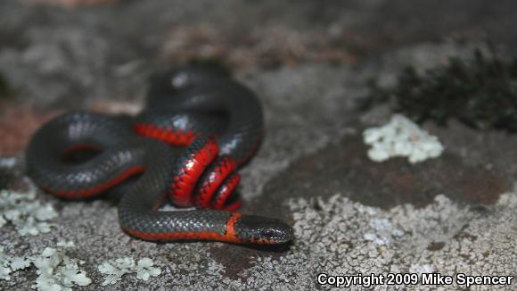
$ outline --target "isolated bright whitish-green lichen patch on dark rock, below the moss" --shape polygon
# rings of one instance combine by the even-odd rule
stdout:
[[[423,162],[443,152],[438,137],[431,136],[400,114],[393,115],[382,127],[366,129],[363,139],[366,145],[372,145],[368,157],[375,162],[396,156],[407,157],[411,163]]]

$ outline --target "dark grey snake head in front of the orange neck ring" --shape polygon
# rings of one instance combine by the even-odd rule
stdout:
[[[278,245],[293,238],[292,229],[282,220],[243,215],[235,224],[237,236],[245,243]]]

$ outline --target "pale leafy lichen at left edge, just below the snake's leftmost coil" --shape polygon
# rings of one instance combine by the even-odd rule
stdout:
[[[37,200],[34,188],[25,192],[0,191],[0,227],[10,221],[21,236],[37,236],[50,232],[53,224],[47,221],[56,217],[51,204]]]

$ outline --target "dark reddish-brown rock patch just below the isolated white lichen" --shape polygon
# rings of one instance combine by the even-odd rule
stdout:
[[[262,199],[328,198],[341,194],[362,204],[389,209],[399,204],[424,207],[436,195],[444,194],[460,203],[494,204],[510,187],[510,181],[495,170],[465,164],[455,154],[410,164],[403,158],[372,162],[366,152],[361,137],[346,138],[295,162],[268,184]],[[275,203],[267,208],[271,213],[282,212],[281,209]]]

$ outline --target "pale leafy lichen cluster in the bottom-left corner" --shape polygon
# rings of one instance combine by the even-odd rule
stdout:
[[[56,248],[45,247],[41,254],[16,257],[4,254],[4,247],[0,246],[0,279],[9,280],[13,271],[27,269],[33,264],[38,276],[32,287],[37,290],[68,291],[74,286],[90,285],[92,279],[79,268],[84,262],[70,258],[65,247],[73,247],[73,243],[59,242]]]

